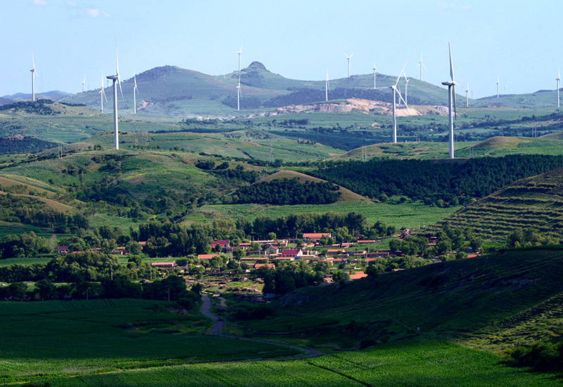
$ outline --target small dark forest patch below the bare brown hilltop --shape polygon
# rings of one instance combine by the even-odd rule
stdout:
[[[232,203],[274,205],[329,204],[339,200],[339,186],[328,182],[305,182],[298,179],[277,179],[243,186],[232,196]]]

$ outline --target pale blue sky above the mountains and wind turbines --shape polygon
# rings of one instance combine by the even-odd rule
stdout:
[[[70,93],[162,65],[210,75],[259,61],[297,80],[377,72],[455,80],[473,98],[556,89],[563,68],[560,0],[0,0],[0,96]],[[563,85],[563,84],[562,84]],[[464,91],[457,91],[464,95]],[[470,95],[470,96],[471,96]]]

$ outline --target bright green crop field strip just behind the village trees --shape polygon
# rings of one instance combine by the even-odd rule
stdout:
[[[365,215],[367,222],[384,220],[387,224],[400,228],[418,229],[426,224],[434,224],[453,214],[460,207],[438,208],[420,203],[337,203],[326,205],[205,205],[186,217],[186,221],[201,220],[202,215],[209,221],[214,219],[236,220],[246,217],[254,220],[258,216],[282,217],[291,214],[323,212],[358,212]]]

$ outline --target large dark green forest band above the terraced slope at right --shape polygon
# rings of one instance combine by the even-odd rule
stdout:
[[[464,205],[518,179],[563,167],[563,156],[514,155],[469,160],[393,160],[323,163],[311,175],[379,201],[403,195],[431,205]]]

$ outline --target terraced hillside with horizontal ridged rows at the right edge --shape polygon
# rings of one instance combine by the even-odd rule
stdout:
[[[512,231],[536,229],[551,234],[563,229],[563,168],[518,180],[467,205],[446,220],[452,227],[472,227],[490,239]],[[439,227],[439,224],[438,224]]]

